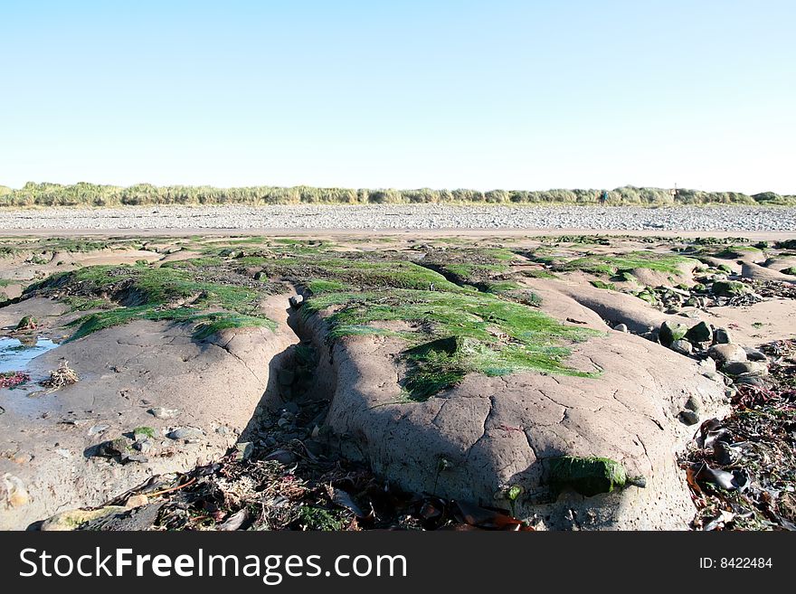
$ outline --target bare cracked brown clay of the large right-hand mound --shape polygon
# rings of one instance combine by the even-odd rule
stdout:
[[[364,457],[409,491],[511,503],[554,529],[681,529],[693,516],[675,460],[693,429],[679,414],[713,415],[725,402],[724,384],[695,362],[610,332],[573,352],[571,362],[597,372],[593,378],[472,374],[437,398],[406,402],[395,364],[401,349],[389,338],[349,337],[328,353],[325,376],[336,379],[328,423],[346,457]],[[556,485],[562,457],[615,461],[643,488]],[[521,495],[509,502],[512,487]]]

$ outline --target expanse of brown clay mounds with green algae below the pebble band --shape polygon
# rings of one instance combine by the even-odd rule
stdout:
[[[20,370],[28,382],[0,389],[5,529],[204,467],[236,442],[252,444],[243,475],[262,460],[289,467],[279,453],[289,442],[405,492],[511,508],[537,527],[686,528],[695,506],[677,456],[696,426],[683,413],[725,416],[729,380],[706,366],[708,342],[691,354],[659,344],[661,324],[704,321],[750,348],[796,328],[787,241],[2,243],[6,335],[62,341]],[[719,295],[723,282],[736,294]],[[297,295],[303,303],[289,304]],[[424,308],[430,299],[466,309],[447,316]],[[36,327],[14,330],[24,316]],[[89,331],[71,340],[76,328]],[[297,362],[310,351],[307,374]],[[62,360],[80,381],[44,391],[38,382]],[[306,423],[294,427],[297,416]],[[128,450],[97,455],[120,436]],[[645,486],[555,489],[560,457],[613,460]],[[512,487],[521,495],[509,500]]]

